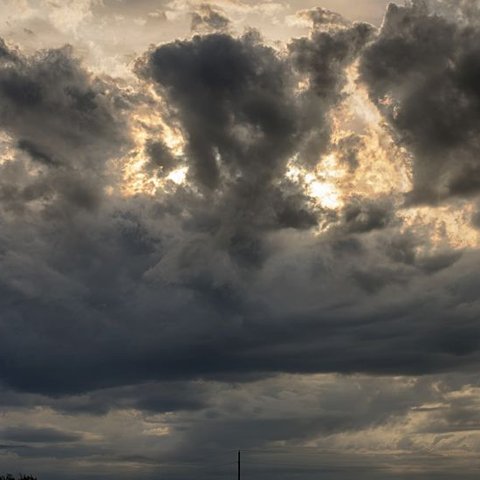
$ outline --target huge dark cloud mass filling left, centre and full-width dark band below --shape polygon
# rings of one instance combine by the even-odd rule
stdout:
[[[352,201],[331,220],[285,178],[297,154],[311,166],[329,150],[345,69],[372,34],[317,25],[281,53],[254,32],[217,33],[145,53],[137,70],[186,140],[177,159],[149,132],[147,171],[190,168],[170,196],[103,196],[106,163],[128,143],[113,81],[68,48],[1,63],[0,123],[16,149],[1,166],[4,383],[70,397],[58,409],[163,412],[203,405],[182,380],[476,365],[474,252],[420,257],[388,201]],[[310,235],[319,221],[334,228]]]

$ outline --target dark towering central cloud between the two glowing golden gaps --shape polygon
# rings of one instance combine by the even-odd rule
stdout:
[[[321,213],[285,179],[286,164],[299,152],[315,164],[327,150],[328,112],[370,31],[355,25],[318,33],[321,41],[317,34],[298,40],[288,56],[253,31],[240,38],[217,33],[164,44],[138,62],[140,75],[168,99],[170,121],[187,140],[190,180],[205,195],[195,199],[189,225],[208,224],[239,265],[265,261],[267,232],[317,224]],[[312,86],[298,93],[305,77]]]

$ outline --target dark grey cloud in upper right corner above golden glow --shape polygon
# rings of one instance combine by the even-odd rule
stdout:
[[[475,195],[480,185],[478,26],[439,16],[431,3],[433,11],[421,1],[391,4],[361,61],[372,99],[414,154],[411,200],[427,203]],[[439,4],[444,13],[462,8]]]

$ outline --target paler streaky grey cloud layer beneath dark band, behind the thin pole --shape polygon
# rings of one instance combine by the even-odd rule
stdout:
[[[452,475],[459,466],[469,475],[475,466],[445,455],[446,448],[475,438],[478,381],[474,374],[460,377],[279,376],[247,385],[210,384],[210,404],[204,410],[167,418],[143,416],[143,431],[132,430],[124,416],[122,431],[130,437],[126,444],[115,434],[115,424],[63,416],[57,421],[70,428],[76,421],[89,425],[93,435],[102,433],[102,441],[6,447],[22,462],[33,458],[41,465],[48,459],[63,471],[75,458],[88,464],[102,455],[112,473],[134,464],[172,478],[227,475],[234,471],[239,447],[245,471],[254,476],[286,478],[296,471],[307,477],[324,472],[327,478],[351,478],[356,472],[360,478],[381,478],[413,468],[413,478],[426,478]],[[103,429],[95,429],[100,422]],[[155,437],[165,426],[168,439]],[[378,451],[352,449],[372,432],[379,435]],[[303,446],[305,441],[310,447]],[[390,449],[397,455],[385,454]],[[432,455],[438,454],[442,461],[432,463]]]

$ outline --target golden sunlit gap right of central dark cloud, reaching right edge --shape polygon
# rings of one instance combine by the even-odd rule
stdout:
[[[346,97],[333,112],[333,151],[323,156],[312,171],[292,162],[287,177],[302,184],[305,192],[321,207],[340,211],[355,197],[389,196],[398,207],[412,188],[411,156],[398,146],[377,107],[358,83],[357,68],[348,72]],[[349,170],[339,162],[342,140],[351,135],[360,139],[356,150],[358,165]],[[403,230],[423,237],[420,250],[427,248],[478,248],[480,237],[472,226],[475,204],[471,201],[452,206],[413,206],[399,208]],[[430,247],[427,247],[429,245]]]

